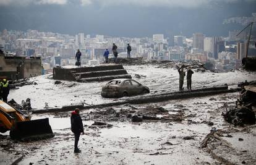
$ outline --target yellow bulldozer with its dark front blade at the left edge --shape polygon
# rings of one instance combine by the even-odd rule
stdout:
[[[0,100],[0,132],[10,130],[14,140],[38,140],[54,137],[49,119],[30,120],[30,116]]]

